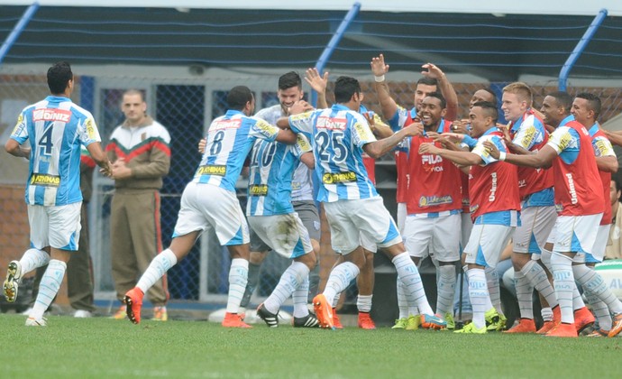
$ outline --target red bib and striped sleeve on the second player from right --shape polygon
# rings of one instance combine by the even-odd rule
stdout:
[[[569,128],[579,134],[578,144]],[[553,132],[548,144],[560,155],[553,161],[555,204],[562,206],[560,215],[588,216],[602,213],[604,204],[600,194],[603,189],[590,134],[585,127],[574,121],[574,117],[566,117]],[[577,145],[578,152],[573,149]],[[566,152],[572,153],[573,162],[564,162],[562,154]]]

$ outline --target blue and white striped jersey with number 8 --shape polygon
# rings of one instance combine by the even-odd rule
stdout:
[[[255,140],[275,141],[279,128],[257,117],[228,110],[216,117],[207,130],[206,151],[192,181],[235,192],[246,156]]]

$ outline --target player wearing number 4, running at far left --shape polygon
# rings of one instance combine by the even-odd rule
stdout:
[[[5,144],[8,153],[30,160],[26,204],[31,226],[31,248],[22,259],[8,265],[3,284],[6,300],[16,300],[25,273],[48,264],[26,319],[26,326],[32,327],[47,325],[43,313],[59,291],[69,257],[78,250],[81,145],[87,146],[105,175],[113,174],[93,116],[69,99],[74,78],[68,62],[60,61],[48,69],[48,87],[51,96],[23,109]],[[22,147],[27,140],[31,147]]]

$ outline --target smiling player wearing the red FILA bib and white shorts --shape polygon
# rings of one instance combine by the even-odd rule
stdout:
[[[456,264],[460,261],[460,169],[441,156],[419,153],[421,143],[434,143],[433,136],[452,130],[452,123],[444,119],[445,113],[445,99],[437,92],[425,97],[419,108],[424,134],[411,137],[408,145],[407,172],[411,180],[404,240],[417,266],[428,255],[437,266],[436,316],[453,329]]]

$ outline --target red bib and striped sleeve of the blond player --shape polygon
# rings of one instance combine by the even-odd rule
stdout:
[[[516,123],[510,123],[509,135],[512,141],[529,150],[537,152],[548,142],[548,133],[544,128],[544,121],[529,109]],[[516,137],[516,138],[515,138]],[[518,167],[518,190],[520,199],[525,199],[532,193],[553,187],[553,171]]]

